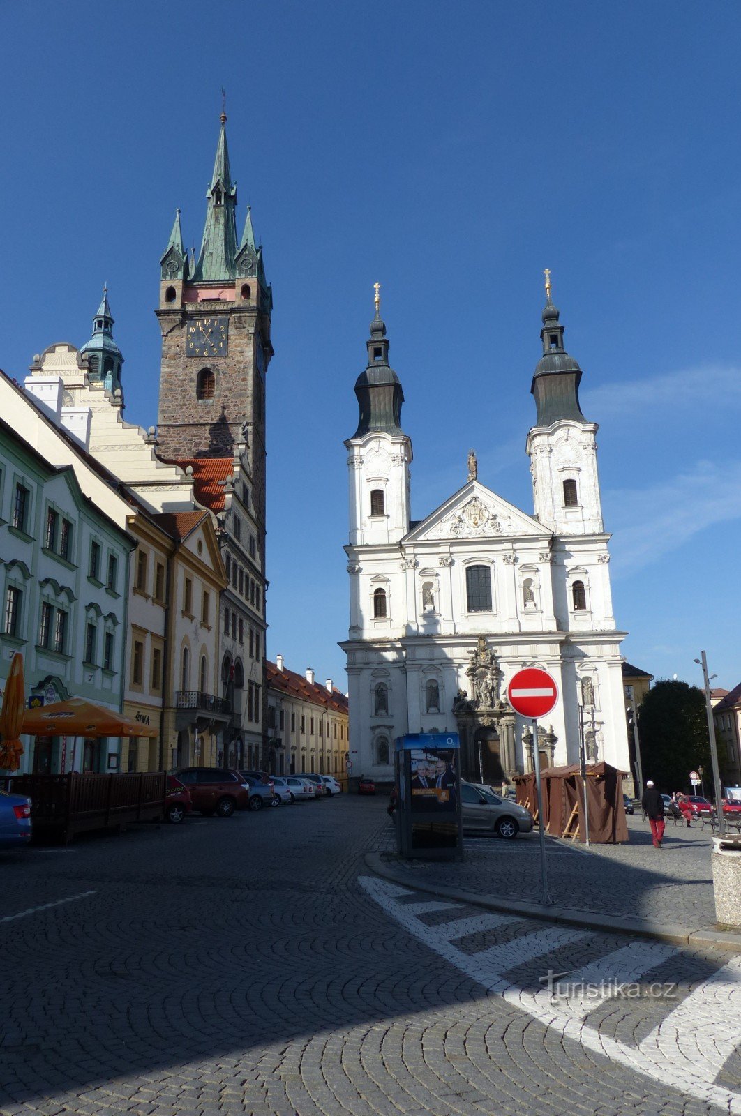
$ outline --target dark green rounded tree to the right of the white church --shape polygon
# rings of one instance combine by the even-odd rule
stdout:
[[[638,710],[644,780],[653,779],[663,793],[692,792],[690,771],[705,769],[711,789],[710,743],[705,695],[686,682],[660,679]]]

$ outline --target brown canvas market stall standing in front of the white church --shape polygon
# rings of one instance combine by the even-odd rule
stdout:
[[[578,839],[585,840],[584,788],[581,769],[578,763],[568,767],[546,768],[540,772],[543,822],[551,837],[561,837],[569,818],[577,808]],[[531,814],[537,810],[536,777],[532,772],[517,776],[517,800]],[[628,840],[623,801],[623,779],[620,772],[609,763],[593,763],[587,767],[587,805],[589,809],[589,840],[596,845],[619,845]],[[576,819],[575,819],[576,820]],[[575,830],[572,821],[568,830]]]

